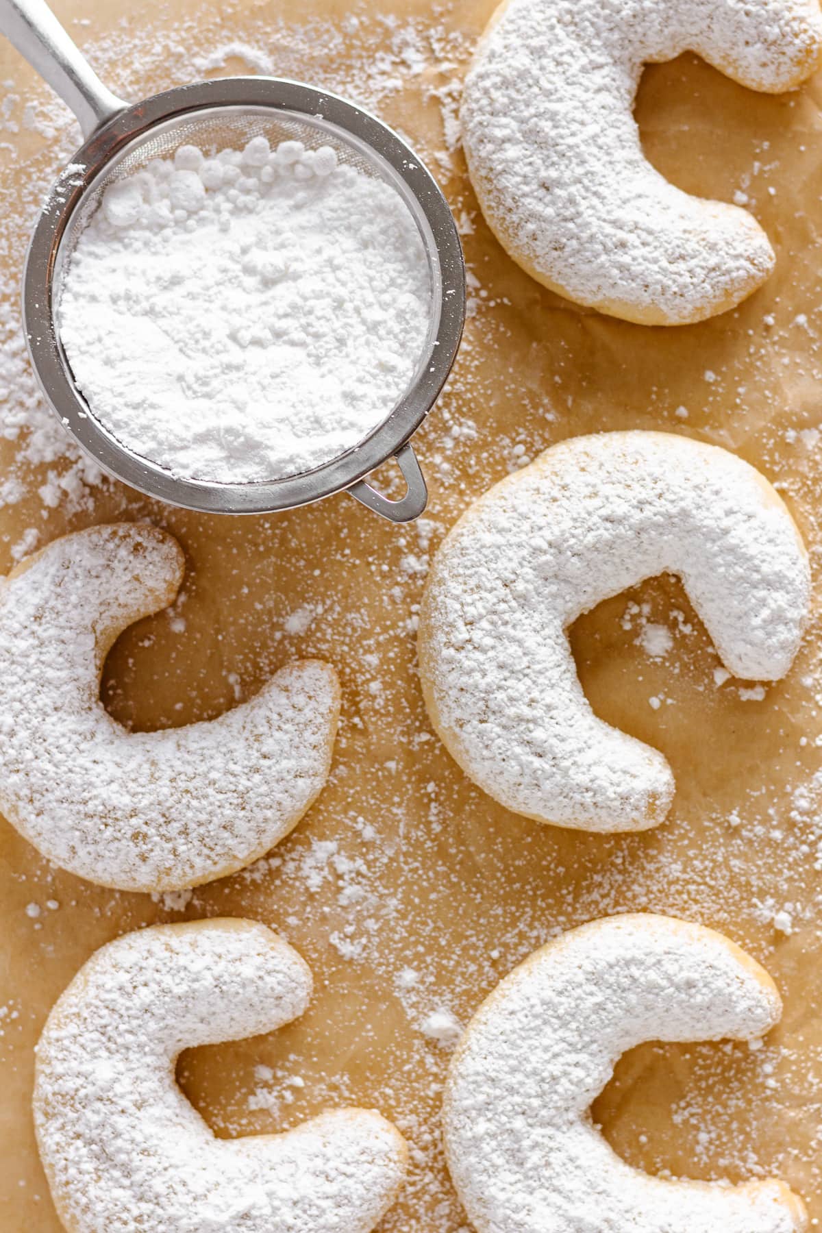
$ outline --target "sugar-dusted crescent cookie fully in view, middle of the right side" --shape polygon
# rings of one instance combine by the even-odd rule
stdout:
[[[589,831],[665,816],[670,767],[594,715],[566,634],[663,571],[680,575],[730,672],[787,672],[807,555],[770,485],[715,445],[646,432],[563,441],[446,536],[420,613],[423,692],[454,758],[507,809]]]

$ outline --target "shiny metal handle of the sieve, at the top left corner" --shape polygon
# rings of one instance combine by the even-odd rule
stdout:
[[[85,141],[126,107],[89,67],[46,0],[0,0],[0,32],[68,104]]]

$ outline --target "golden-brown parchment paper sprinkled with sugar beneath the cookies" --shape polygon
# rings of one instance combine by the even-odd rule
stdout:
[[[664,825],[614,838],[525,821],[465,779],[430,735],[413,633],[426,552],[468,499],[518,457],[595,429],[690,433],[736,450],[779,482],[816,562],[822,78],[797,95],[767,97],[694,57],[648,69],[637,115],[649,157],[689,191],[725,200],[744,192],[779,255],[775,275],[737,312],[648,329],[541,290],[476,212],[442,125],[490,0],[375,0],[354,10],[336,0],[243,0],[230,11],[214,0],[152,2],[139,12],[110,0],[57,7],[92,51],[104,39],[96,63],[134,94],[184,80],[185,62],[232,39],[265,47],[275,70],[362,96],[371,89],[365,78],[382,74],[380,110],[429,155],[461,219],[472,308],[450,388],[418,436],[431,493],[419,528],[391,526],[348,497],[232,520],[111,487],[74,512],[44,509],[37,469],[23,469],[22,501],[0,509],[2,568],[32,526],[43,544],[92,522],[150,517],[184,545],[189,575],[176,619],[129,629],[108,660],[104,698],[117,719],[136,727],[207,719],[302,655],[334,663],[344,689],[334,768],[318,803],[274,861],[187,903],[83,883],[49,868],[0,821],[0,1227],[59,1229],[30,1094],[32,1047],[60,990],[124,930],[234,914],[270,924],[299,949],[314,973],[314,1001],[271,1037],[185,1055],[187,1094],[218,1134],[286,1127],[325,1105],[378,1107],[414,1147],[383,1233],[456,1233],[465,1217],[437,1153],[447,1051],[420,1033],[420,1022],[436,1009],[465,1022],[536,944],[626,909],[722,930],[774,975],[785,1015],[757,1051],[649,1044],[626,1057],[595,1110],[610,1142],[632,1164],[674,1175],[778,1173],[822,1217],[818,612],[792,672],[764,697],[716,674],[716,653],[674,580],[652,580],[578,623],[574,651],[596,711],[663,750],[677,776]],[[283,35],[283,21],[302,33]],[[312,21],[315,36],[306,38]],[[397,32],[412,27],[417,51],[399,54]],[[157,33],[148,52],[145,30]],[[392,65],[397,83],[387,88]],[[223,57],[216,72],[246,67],[242,55]],[[15,106],[31,91],[47,101],[6,46],[0,69],[4,89],[22,100]],[[49,141],[4,127],[1,212],[18,238],[6,244],[2,275],[15,277],[30,218],[23,186],[43,174]],[[2,443],[4,466],[18,449]],[[645,649],[648,623],[672,635],[663,657]],[[39,916],[27,914],[32,904]],[[790,933],[774,928],[779,911]]]

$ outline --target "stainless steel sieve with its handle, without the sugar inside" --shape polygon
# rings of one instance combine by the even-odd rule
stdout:
[[[84,144],[60,173],[28,247],[23,326],[42,391],[78,444],[110,475],[149,497],[189,509],[258,514],[291,509],[348,491],[393,522],[425,508],[425,480],[409,438],[451,370],[465,322],[465,264],[454,216],[435,180],[391,128],[325,90],[279,78],[200,81],[143,102],[117,99],[95,75],[44,0],[0,0],[0,31],[69,105]],[[338,158],[391,184],[408,207],[428,256],[431,321],[414,376],[385,420],[357,445],[301,475],[249,483],[173,476],[124,446],[92,414],[78,388],[57,328],[62,277],[102,191],[179,145],[240,148],[264,134],[272,147],[297,138],[333,145]],[[365,480],[394,456],[407,483],[389,501]]]

